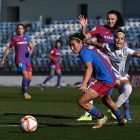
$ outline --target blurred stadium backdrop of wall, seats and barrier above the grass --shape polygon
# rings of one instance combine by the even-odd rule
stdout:
[[[72,86],[82,81],[85,67],[79,55],[74,55],[68,44],[68,37],[81,32],[78,15],[88,18],[87,32],[99,24],[106,24],[106,15],[110,10],[121,12],[127,33],[128,46],[140,50],[140,1],[139,0],[0,0],[0,61],[11,38],[16,35],[19,23],[31,23],[25,34],[31,38],[34,53],[31,55],[33,80],[31,86],[39,86],[49,75],[48,55],[61,40],[62,86]],[[92,38],[96,41],[96,38]],[[0,68],[0,85],[20,86],[21,76],[15,66],[15,52],[11,50]],[[140,59],[130,60],[130,81],[133,87],[140,87]],[[54,86],[56,77],[47,83]]]

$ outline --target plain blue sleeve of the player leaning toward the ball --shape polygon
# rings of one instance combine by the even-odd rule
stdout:
[[[83,53],[80,55],[83,63],[87,63],[87,62],[93,62],[92,60],[92,54],[90,50],[84,50]]]

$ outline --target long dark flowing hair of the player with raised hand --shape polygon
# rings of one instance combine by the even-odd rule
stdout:
[[[115,26],[114,26],[115,29],[117,29],[118,27],[124,26],[124,20],[120,12],[118,12],[117,10],[111,10],[107,13],[107,16],[108,14],[115,14],[117,16],[118,20],[115,23]]]

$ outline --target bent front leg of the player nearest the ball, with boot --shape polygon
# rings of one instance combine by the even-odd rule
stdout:
[[[97,117],[97,125],[93,128],[101,128],[102,125],[107,121],[107,117],[104,116],[93,104],[90,104],[89,101],[99,97],[99,94],[92,88],[88,89],[88,92],[85,92],[79,99],[78,104],[83,109],[88,111],[91,115]]]

